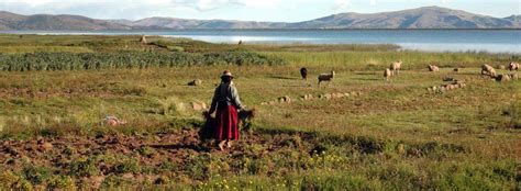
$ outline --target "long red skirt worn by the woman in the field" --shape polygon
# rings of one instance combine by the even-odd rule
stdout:
[[[215,117],[218,121],[218,139],[239,139],[239,115],[237,109],[235,109],[234,105],[229,105],[225,109],[218,109]]]

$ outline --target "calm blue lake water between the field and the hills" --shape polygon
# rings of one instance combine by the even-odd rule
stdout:
[[[425,52],[521,54],[521,30],[182,30],[3,33],[146,34],[233,44],[239,41],[255,44],[396,44],[403,49]]]

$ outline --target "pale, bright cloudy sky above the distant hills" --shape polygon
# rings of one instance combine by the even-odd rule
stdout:
[[[296,22],[341,12],[373,13],[439,5],[505,18],[521,14],[521,0],[0,0],[22,14],[80,14],[96,19],[170,16]]]

